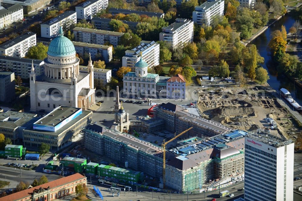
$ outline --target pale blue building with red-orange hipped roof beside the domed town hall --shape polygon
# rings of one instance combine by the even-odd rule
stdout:
[[[182,75],[175,75],[166,82],[167,98],[185,99],[186,98],[186,81]]]

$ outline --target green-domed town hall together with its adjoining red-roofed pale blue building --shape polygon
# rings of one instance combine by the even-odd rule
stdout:
[[[138,97],[185,99],[186,82],[182,75],[173,77],[148,73],[148,64],[142,59],[135,64],[135,72],[123,77],[124,94]]]

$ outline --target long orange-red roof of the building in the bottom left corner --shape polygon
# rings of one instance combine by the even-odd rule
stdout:
[[[19,200],[19,199],[31,196],[33,191],[38,190],[40,187],[43,190],[47,189],[48,187],[50,187],[50,189],[52,189],[52,188],[59,187],[59,186],[62,186],[64,184],[71,183],[73,181],[84,179],[84,178],[86,178],[86,177],[83,176],[82,174],[76,173],[76,174],[73,174],[73,175],[70,175],[70,176],[67,176],[67,177],[63,177],[63,178],[60,178],[60,179],[57,179],[57,180],[54,180],[54,181],[50,181],[48,183],[44,183],[42,185],[39,185],[39,186],[36,186],[36,187],[33,187],[33,188],[29,188],[29,189],[26,189],[26,190],[19,191],[17,193],[10,194],[10,195],[5,196],[5,197],[1,197],[0,201]]]

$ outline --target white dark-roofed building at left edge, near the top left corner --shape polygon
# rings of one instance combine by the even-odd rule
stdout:
[[[0,10],[0,29],[14,22],[23,19],[23,7],[20,4],[15,4],[5,9]]]

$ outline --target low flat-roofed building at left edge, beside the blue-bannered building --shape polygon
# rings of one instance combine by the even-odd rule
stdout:
[[[0,133],[10,138],[13,143],[23,138],[23,129],[36,122],[37,114],[7,111],[0,112]]]

